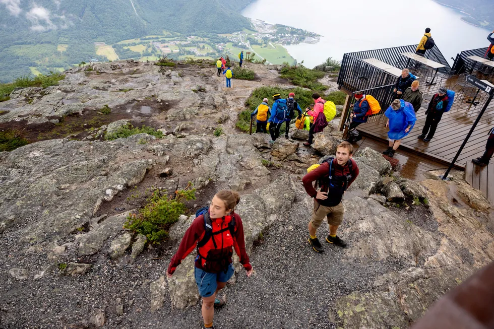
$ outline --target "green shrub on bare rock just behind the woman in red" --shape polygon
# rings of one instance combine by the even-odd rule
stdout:
[[[145,235],[151,243],[159,244],[168,236],[169,227],[186,212],[187,208],[183,201],[195,200],[195,193],[195,188],[178,190],[172,198],[162,194],[160,189],[155,189],[144,208],[137,214],[129,215],[123,227]]]

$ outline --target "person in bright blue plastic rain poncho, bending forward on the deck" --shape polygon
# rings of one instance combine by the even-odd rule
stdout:
[[[413,105],[402,99],[395,99],[384,115],[388,118],[386,128],[389,128],[389,147],[383,154],[392,158],[400,146],[401,140],[412,130],[417,118]]]

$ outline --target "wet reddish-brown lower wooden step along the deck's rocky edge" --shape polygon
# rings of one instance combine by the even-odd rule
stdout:
[[[360,141],[353,144],[353,152],[355,153],[357,150],[364,149],[366,147],[381,153],[388,148],[388,143],[372,137],[363,137]],[[447,166],[439,162],[424,159],[420,155],[404,149],[399,149],[393,158],[399,160],[400,175],[404,178],[416,181],[425,180],[426,177],[423,173],[426,171],[435,169],[444,169],[446,171],[447,168]],[[494,172],[492,174],[492,178],[494,179]],[[494,191],[494,189],[492,191]]]

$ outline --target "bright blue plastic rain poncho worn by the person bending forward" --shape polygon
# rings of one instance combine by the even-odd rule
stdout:
[[[401,140],[412,131],[413,126],[417,118],[415,117],[415,111],[413,105],[400,100],[401,107],[398,110],[394,110],[391,106],[388,107],[384,115],[389,119],[389,133],[388,137],[392,140]],[[408,133],[405,133],[405,129],[410,126]]]

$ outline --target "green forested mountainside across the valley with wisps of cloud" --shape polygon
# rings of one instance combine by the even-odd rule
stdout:
[[[250,27],[239,14],[249,0],[2,0],[0,82],[43,64],[67,68],[102,59],[94,42],[161,34],[229,33]]]

